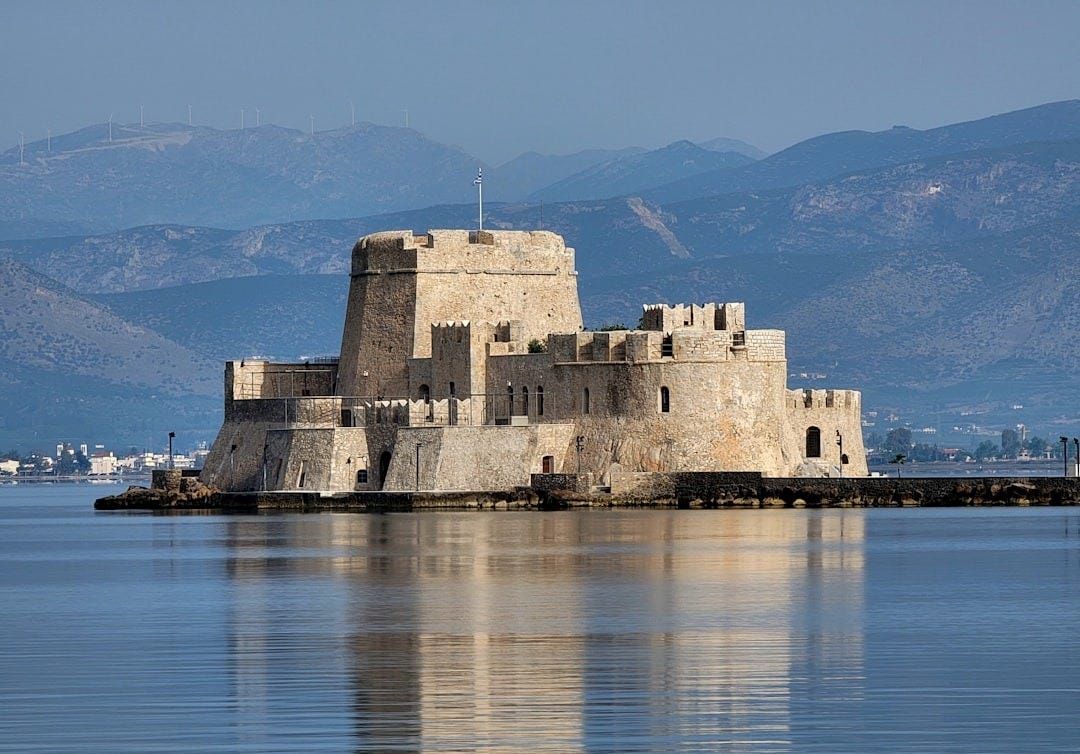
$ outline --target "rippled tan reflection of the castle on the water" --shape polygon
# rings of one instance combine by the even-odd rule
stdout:
[[[861,692],[863,515],[238,521],[257,553],[235,552],[247,597],[232,633],[274,631],[264,603],[275,577],[333,592],[321,628],[334,638],[319,641],[342,647],[333,674],[351,695],[357,751],[631,749],[665,737],[783,748],[804,705]],[[255,533],[279,524],[281,541],[318,555],[265,556],[273,548],[259,542],[278,536]],[[241,694],[296,672],[272,646],[245,656]],[[831,684],[804,683],[823,668]]]

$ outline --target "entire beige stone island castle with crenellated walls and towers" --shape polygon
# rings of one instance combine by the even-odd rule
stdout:
[[[586,332],[546,231],[376,233],[352,252],[339,359],[225,368],[202,481],[243,490],[498,490],[532,474],[865,475],[860,393],[788,390],[742,304],[647,306]],[[841,455],[843,457],[841,462]]]

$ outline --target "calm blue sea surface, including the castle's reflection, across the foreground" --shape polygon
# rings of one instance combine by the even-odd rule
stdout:
[[[1080,510],[107,492],[0,487],[2,752],[1080,752]]]

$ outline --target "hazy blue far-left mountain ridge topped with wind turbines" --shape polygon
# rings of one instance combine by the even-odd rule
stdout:
[[[354,217],[472,196],[478,161],[408,129],[359,123],[306,134],[264,125],[95,125],[0,154],[0,224],[95,232],[185,223],[245,228]],[[2,227],[2,226],[0,226]],[[10,237],[9,237],[10,238]]]

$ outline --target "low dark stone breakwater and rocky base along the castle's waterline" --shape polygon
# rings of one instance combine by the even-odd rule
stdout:
[[[535,474],[529,487],[505,492],[249,492],[225,493],[154,479],[100,498],[97,510],[259,511],[559,510],[572,508],[942,508],[1078,506],[1075,477],[777,479],[742,472],[635,474],[596,487],[588,475]]]

